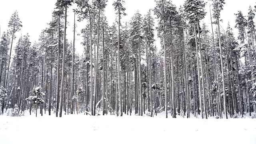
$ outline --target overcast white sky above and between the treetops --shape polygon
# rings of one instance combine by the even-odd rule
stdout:
[[[107,16],[107,20],[110,25],[114,22],[116,15],[114,12],[114,7],[112,6],[115,0],[108,0],[105,15]],[[184,4],[185,0],[172,0],[173,4],[179,8],[180,5]],[[208,2],[208,0],[205,0]],[[122,22],[129,22],[130,18],[133,14],[139,10],[142,16],[144,16],[150,8],[155,7],[154,0],[125,0],[126,4],[124,7],[126,8],[127,16],[122,18]],[[253,8],[256,5],[254,0],[225,0],[226,4],[224,5],[224,10],[221,12],[221,18],[223,19],[223,23],[220,23],[224,30],[228,22],[232,28],[235,25],[235,13],[238,10],[241,10],[242,13],[247,16],[248,8],[251,5]],[[18,15],[20,20],[22,21],[23,27],[20,32],[16,33],[16,36],[19,38],[21,35],[28,33],[30,35],[30,41],[33,43],[37,41],[39,38],[40,32],[47,27],[47,23],[52,19],[52,11],[54,10],[56,0],[2,0],[0,4],[0,24],[1,24],[1,35],[2,32],[6,32],[8,30],[8,22],[10,20],[11,15],[18,11]],[[67,38],[69,41],[73,40],[73,18],[74,13],[72,12],[72,8],[76,7],[76,4],[68,9],[68,18],[69,25],[67,26]],[[210,25],[210,11],[209,11],[209,2],[206,5],[206,18],[203,20],[206,24]],[[157,24],[157,22],[156,22]],[[77,33],[80,33],[80,30],[84,28],[86,22],[77,22],[78,28]],[[210,29],[210,27],[209,27]],[[214,26],[215,29],[215,26]],[[236,28],[233,29],[235,36],[237,36],[238,30]],[[16,38],[16,40],[18,40]],[[14,42],[16,42],[14,40]],[[80,36],[76,36],[76,52],[82,53],[82,38]],[[14,44],[15,46],[16,44]],[[159,39],[156,41],[156,45],[159,46]]]

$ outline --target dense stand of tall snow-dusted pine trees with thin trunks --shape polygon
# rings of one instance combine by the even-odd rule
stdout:
[[[228,20],[234,28],[222,28],[224,0],[185,0],[182,6],[155,0],[146,15],[137,11],[125,23],[125,0],[115,0],[116,20],[109,25],[106,2],[56,0],[52,20],[34,43],[29,34],[16,35],[18,11],[10,16],[9,30],[0,33],[2,115],[256,118],[256,6]],[[73,5],[73,26],[67,27]],[[211,24],[203,21],[206,13]],[[76,35],[83,38],[80,54]]]

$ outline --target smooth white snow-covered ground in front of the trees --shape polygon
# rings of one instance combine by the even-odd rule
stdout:
[[[0,144],[256,144],[256,119],[44,114],[0,116]],[[199,116],[200,117],[200,116]]]

